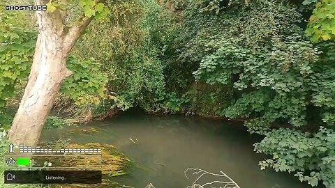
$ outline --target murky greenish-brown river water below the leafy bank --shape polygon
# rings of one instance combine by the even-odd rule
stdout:
[[[49,130],[43,132],[42,140],[61,138],[71,139],[71,143],[112,144],[136,164],[149,169],[134,169],[129,175],[114,178],[121,185],[144,188],[152,183],[156,188],[187,187],[198,175],[186,178],[184,171],[192,167],[211,173],[222,171],[241,188],[309,187],[287,173],[271,169],[261,171],[258,162],[265,156],[253,152],[252,146],[261,138],[251,136],[237,123],[200,117],[123,114],[80,127],[96,127],[103,131],[67,134],[68,128]],[[204,175],[198,182],[203,184],[219,178]]]

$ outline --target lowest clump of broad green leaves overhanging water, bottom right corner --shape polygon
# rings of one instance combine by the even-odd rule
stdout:
[[[272,159],[260,162],[262,169],[271,166],[276,171],[295,172],[299,180],[308,181],[312,186],[318,185],[318,180],[326,187],[335,185],[334,130],[321,127],[316,134],[274,130],[255,144],[255,150],[273,155]]]

